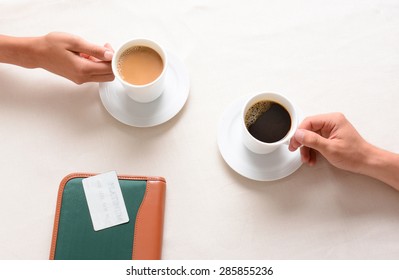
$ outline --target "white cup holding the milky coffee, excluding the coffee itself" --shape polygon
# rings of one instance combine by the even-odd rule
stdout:
[[[123,54],[123,52],[129,48],[133,48],[136,46],[143,46],[153,49],[159,54],[163,63],[163,69],[161,74],[155,80],[144,85],[135,85],[125,81],[118,70],[118,63],[120,61],[120,57]],[[161,96],[161,94],[165,89],[165,76],[167,68],[168,68],[168,58],[164,48],[161,47],[155,41],[144,38],[132,39],[125,42],[115,51],[114,57],[112,59],[112,72],[114,73],[115,77],[126,89],[127,95],[130,98],[132,98],[134,101],[140,103],[148,103],[154,101],[155,99]]]

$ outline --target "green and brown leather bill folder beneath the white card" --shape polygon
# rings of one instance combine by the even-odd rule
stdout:
[[[82,180],[73,173],[60,183],[50,259],[160,259],[166,182],[162,177],[118,176],[129,222],[94,231]]]

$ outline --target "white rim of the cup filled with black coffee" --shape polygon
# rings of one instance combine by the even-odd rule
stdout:
[[[245,114],[248,111],[248,109],[250,108],[250,106],[254,105],[255,103],[259,102],[260,100],[254,102],[251,104],[251,102],[254,99],[257,99],[261,96],[271,96],[270,99],[268,99],[267,97],[265,98],[265,100],[270,100],[276,103],[279,103],[280,105],[284,106],[284,108],[287,110],[288,114],[290,115],[291,118],[291,127],[288,130],[287,134],[281,138],[280,140],[276,141],[276,142],[263,142],[260,141],[259,139],[255,138],[254,136],[252,136],[251,133],[249,133],[248,128],[245,124]],[[280,100],[283,100],[285,104],[281,104]],[[290,108],[287,108],[287,105],[289,105]],[[267,146],[267,147],[272,147],[272,146],[279,146],[281,144],[284,144],[287,142],[287,140],[289,140],[290,138],[292,138],[295,134],[295,130],[298,126],[298,119],[297,119],[297,113],[296,113],[296,109],[294,104],[292,103],[292,101],[290,99],[288,99],[286,96],[279,94],[279,93],[274,93],[274,92],[261,92],[261,93],[255,93],[252,94],[246,101],[244,106],[242,107],[242,112],[241,112],[241,122],[243,123],[244,126],[244,131],[247,134],[247,136],[249,136],[252,140],[254,140],[254,142],[263,145],[263,146]]]

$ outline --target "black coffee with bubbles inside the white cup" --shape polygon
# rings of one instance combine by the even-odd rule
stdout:
[[[291,128],[287,109],[272,101],[260,101],[252,105],[245,124],[249,133],[259,141],[273,143],[283,139]]]

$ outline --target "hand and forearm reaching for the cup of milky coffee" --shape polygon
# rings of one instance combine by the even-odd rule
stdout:
[[[72,34],[52,32],[41,37],[0,35],[0,62],[43,68],[77,84],[114,79],[113,49]]]

